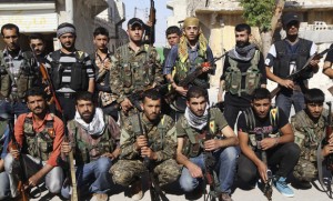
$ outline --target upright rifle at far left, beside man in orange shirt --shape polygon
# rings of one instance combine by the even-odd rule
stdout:
[[[11,144],[9,145],[11,150],[20,150],[20,144],[18,143],[16,135],[14,135],[14,129],[13,129],[13,120],[10,118],[8,120],[8,127],[9,127],[9,133],[11,135]],[[20,162],[20,172],[19,172],[19,184],[18,184],[18,191],[21,194],[21,201],[29,201],[30,200],[30,188],[29,188],[29,178],[26,170],[26,163],[22,158],[22,154],[20,153],[19,158],[14,159]]]

